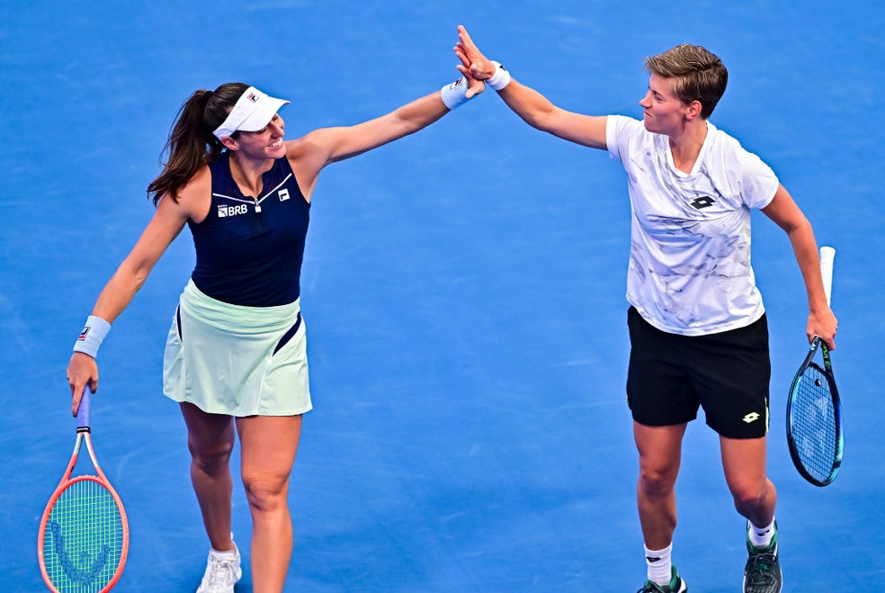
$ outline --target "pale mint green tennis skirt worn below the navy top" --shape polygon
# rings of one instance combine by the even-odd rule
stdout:
[[[163,392],[205,412],[294,416],[312,408],[299,301],[243,307],[184,287],[163,357]]]

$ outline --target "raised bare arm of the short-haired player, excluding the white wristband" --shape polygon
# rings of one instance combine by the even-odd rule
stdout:
[[[487,81],[499,68],[486,58],[470,38],[467,29],[458,26],[458,44],[455,54],[464,76]],[[504,102],[532,128],[543,130],[562,139],[591,148],[605,148],[605,116],[582,115],[560,109],[538,91],[511,79],[498,90]]]

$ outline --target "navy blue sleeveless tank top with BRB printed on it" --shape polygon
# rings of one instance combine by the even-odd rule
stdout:
[[[197,252],[193,283],[213,299],[246,307],[295,301],[310,204],[295,183],[289,160],[274,161],[257,198],[240,192],[230,175],[228,151],[209,168],[209,215],[200,224],[188,220]]]

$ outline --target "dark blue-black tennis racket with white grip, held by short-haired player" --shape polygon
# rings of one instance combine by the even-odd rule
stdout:
[[[827,304],[835,256],[833,247],[820,247],[820,274]],[[823,367],[814,362],[818,350],[823,357]],[[833,378],[833,365],[827,344],[815,337],[790,386],[787,445],[800,475],[815,486],[826,486],[836,480],[839,473],[843,444],[842,403]]]

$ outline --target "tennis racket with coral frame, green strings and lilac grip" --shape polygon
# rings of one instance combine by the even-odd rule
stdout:
[[[37,556],[49,590],[58,593],[110,591],[120,580],[129,550],[126,512],[95,459],[89,427],[87,385],[76,414],[76,444],[71,461],[40,519]],[[71,476],[80,445],[92,460],[94,474]]]

